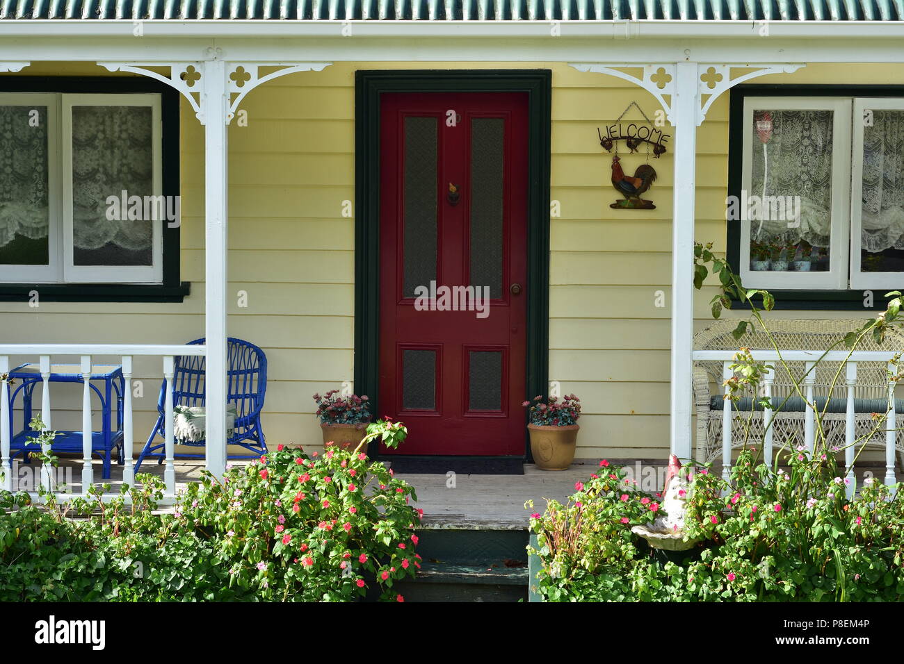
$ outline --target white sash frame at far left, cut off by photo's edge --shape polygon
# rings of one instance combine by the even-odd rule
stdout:
[[[52,92],[0,93],[0,106],[47,108],[47,260],[44,266],[0,265],[0,282],[60,281],[60,95]]]

